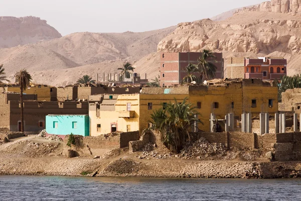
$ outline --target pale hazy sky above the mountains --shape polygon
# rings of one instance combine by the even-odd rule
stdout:
[[[264,0],[0,0],[0,16],[36,16],[63,36],[143,32],[210,18]]]

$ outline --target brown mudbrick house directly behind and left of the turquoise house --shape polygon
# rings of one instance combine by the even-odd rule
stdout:
[[[36,94],[24,94],[25,131],[45,129],[47,115],[88,115],[88,102],[37,100]],[[0,93],[0,128],[21,130],[20,93]]]

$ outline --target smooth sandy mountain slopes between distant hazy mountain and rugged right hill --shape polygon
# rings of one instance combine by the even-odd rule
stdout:
[[[99,80],[102,80],[103,73],[117,73],[117,68],[126,61],[132,62],[136,72],[141,70],[154,78],[158,75],[158,65],[151,62],[154,59],[136,61],[147,60],[149,54],[152,56],[159,41],[175,29],[176,26],[142,33],[74,33],[50,41],[0,49],[0,63],[4,64],[11,80],[17,70],[26,68],[35,82],[54,86],[72,84],[84,74],[96,79],[99,73]],[[149,63],[157,65],[156,72],[147,71]]]

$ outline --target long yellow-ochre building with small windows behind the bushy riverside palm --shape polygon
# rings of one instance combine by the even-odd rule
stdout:
[[[217,119],[224,119],[225,115],[232,113],[236,120],[240,120],[243,113],[252,113],[253,116],[276,113],[277,95],[277,87],[273,82],[260,79],[219,79],[208,81],[206,85],[143,87],[140,94],[104,95],[102,102],[101,97],[93,99],[91,96],[89,100],[101,104],[90,104],[90,134],[110,133],[115,125],[117,131],[141,132],[149,127],[150,115],[162,108],[162,103],[174,102],[175,99],[181,103],[185,97],[200,113],[198,118],[203,124],[198,125],[199,130],[208,132],[211,113]],[[97,107],[99,113],[96,111]],[[124,117],[121,115],[123,112]],[[95,117],[97,124],[100,124],[98,132]]]

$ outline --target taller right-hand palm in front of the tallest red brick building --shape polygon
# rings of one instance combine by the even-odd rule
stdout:
[[[215,60],[216,56],[214,55],[213,52],[210,50],[203,50],[202,56],[199,57],[198,59],[198,68],[199,68],[199,73],[200,73],[200,78],[203,79],[213,79],[215,76],[215,72],[217,67],[214,65],[216,62]],[[208,61],[208,60],[212,60]]]

